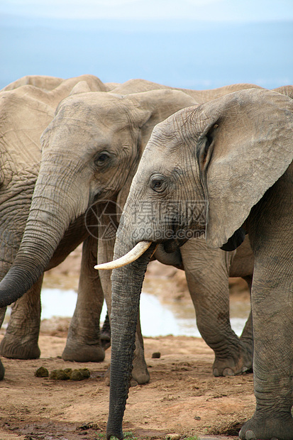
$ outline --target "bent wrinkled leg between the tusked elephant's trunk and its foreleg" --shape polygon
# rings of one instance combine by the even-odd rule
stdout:
[[[230,324],[229,253],[207,248],[202,238],[187,241],[181,253],[199,332],[215,353],[214,375],[247,372],[252,367],[252,353]]]

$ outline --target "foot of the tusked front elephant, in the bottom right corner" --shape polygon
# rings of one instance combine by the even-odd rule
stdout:
[[[254,415],[243,425],[239,437],[242,440],[293,440],[293,418],[290,414],[282,419],[262,419]]]

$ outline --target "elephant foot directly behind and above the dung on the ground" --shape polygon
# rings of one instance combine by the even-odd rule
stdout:
[[[64,361],[102,362],[105,358],[104,348],[99,343],[87,344],[69,341],[62,353]]]

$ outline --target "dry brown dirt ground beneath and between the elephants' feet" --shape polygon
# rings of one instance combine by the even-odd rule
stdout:
[[[66,285],[71,272],[77,275],[78,261],[75,252],[71,260],[46,275],[47,285],[52,287],[56,276]],[[157,263],[149,270],[146,288],[151,290],[152,285],[160,284],[162,277],[170,281],[170,300],[190,301],[183,274],[173,268],[162,270]],[[232,292],[232,301],[247,301],[247,290],[238,280],[233,282]],[[104,373],[111,348],[102,363],[62,361],[69,321],[43,322],[40,359],[2,359],[6,375],[0,382],[0,440],[105,438],[109,387],[104,383]],[[155,352],[160,352],[160,358],[152,358]],[[173,440],[190,436],[237,438],[241,425],[255,408],[252,374],[214,378],[213,352],[202,339],[187,336],[145,338],[145,358],[150,383],[130,389],[123,423],[128,439],[165,439],[167,434],[177,434],[170,436]],[[34,373],[40,366],[49,372],[89,368],[91,375],[82,381],[36,378]]]

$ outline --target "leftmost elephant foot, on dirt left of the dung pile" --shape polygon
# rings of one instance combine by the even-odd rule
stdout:
[[[31,341],[6,333],[0,344],[0,353],[5,358],[38,359],[40,357],[40,348],[35,338]]]

